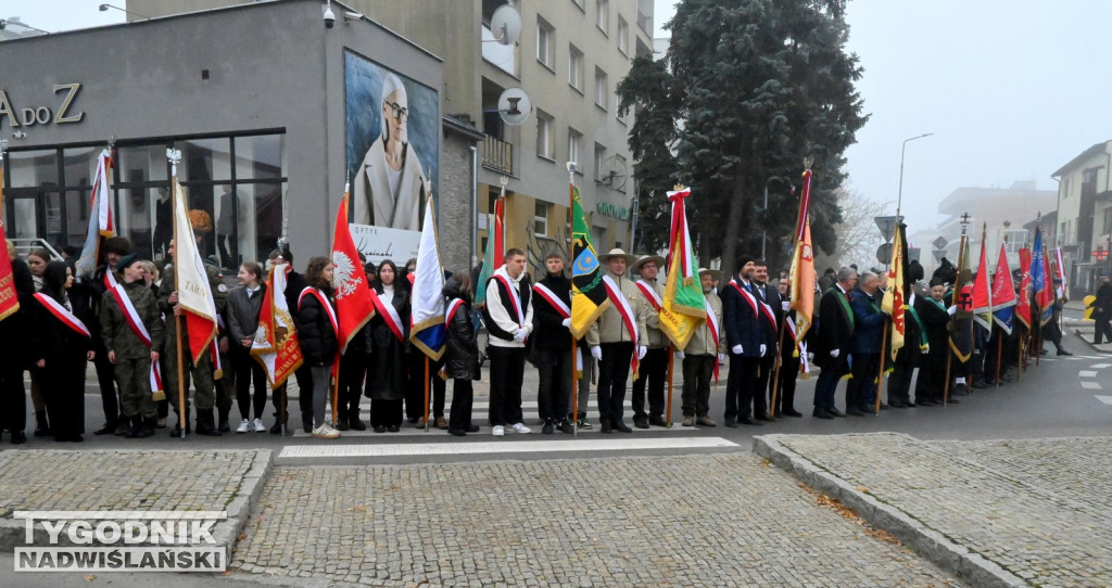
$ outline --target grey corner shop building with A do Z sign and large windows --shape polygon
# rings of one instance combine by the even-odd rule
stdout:
[[[335,8],[332,28],[319,2],[285,0],[0,42],[9,237],[80,247],[96,158],[110,141],[119,232],[152,259],[171,237],[170,148],[181,150],[189,208],[211,219],[202,252],[225,268],[265,259],[284,220],[300,261],[326,255],[345,182],[373,183],[368,146],[388,129],[405,137],[408,127],[401,161],[420,173],[411,202],[424,210],[435,193],[441,212],[469,211],[469,175],[439,181],[443,150],[467,149],[445,140],[440,60]],[[367,248],[401,262],[419,225],[376,217],[374,190],[353,187],[351,221],[381,229]]]

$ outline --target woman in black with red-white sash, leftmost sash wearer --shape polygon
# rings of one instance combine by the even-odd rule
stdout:
[[[63,261],[47,263],[42,290],[36,297],[31,333],[34,369],[42,382],[56,441],[83,441],[85,366],[92,360],[88,327],[73,315],[66,290],[73,273]]]

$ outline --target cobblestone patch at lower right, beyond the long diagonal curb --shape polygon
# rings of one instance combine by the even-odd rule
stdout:
[[[1112,586],[1112,438],[776,440],[1031,586]]]

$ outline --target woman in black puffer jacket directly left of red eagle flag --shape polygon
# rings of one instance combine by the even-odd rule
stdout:
[[[325,406],[336,362],[336,310],[332,308],[332,263],[327,257],[309,259],[305,270],[309,287],[301,291],[297,306],[297,337],[305,363],[312,372],[312,436],[336,439],[340,431],[325,419]],[[301,393],[305,393],[302,391]],[[302,416],[302,420],[305,420]]]

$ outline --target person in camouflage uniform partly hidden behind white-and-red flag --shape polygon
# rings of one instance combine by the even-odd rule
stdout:
[[[173,256],[173,241],[170,241],[170,256]],[[211,263],[205,263],[205,273],[208,275],[209,289],[212,290],[212,300],[216,302],[216,311],[222,313],[225,308],[228,306],[228,287],[224,285],[224,279],[220,276],[220,270],[212,266]],[[162,275],[162,283],[159,286],[158,306],[166,313],[166,385],[167,385],[167,396],[170,399],[170,405],[173,407],[175,412],[178,415],[175,418],[175,428],[170,431],[170,437],[181,437],[181,407],[178,406],[178,353],[175,349],[177,341],[177,315],[181,313],[178,309],[178,286],[177,286],[177,272],[173,270],[172,265],[166,266],[166,271]],[[185,322],[182,321],[182,327]],[[182,331],[181,333],[182,346],[187,346],[188,333]],[[220,428],[214,419],[212,408],[216,405],[216,393],[215,386],[212,383],[212,360],[209,353],[202,353],[200,359],[193,362],[192,358],[189,357],[188,347],[182,349],[182,359],[186,365],[182,369],[182,376],[185,379],[183,386],[186,389],[186,430],[189,432],[189,377],[192,375],[193,380],[193,399],[197,402],[197,435],[210,435],[219,436]],[[230,401],[230,400],[229,400]]]

